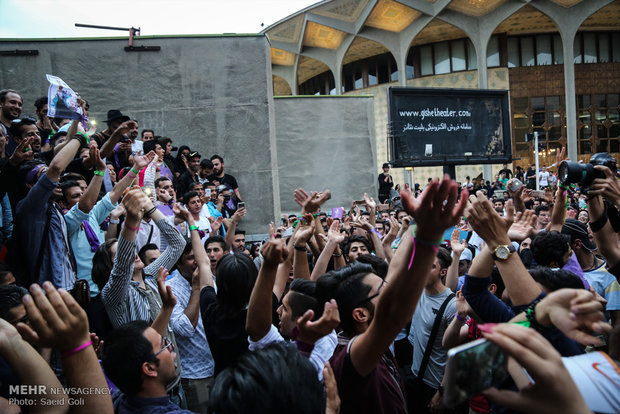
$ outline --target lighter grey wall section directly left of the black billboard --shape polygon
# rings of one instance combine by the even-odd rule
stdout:
[[[327,209],[377,198],[372,96],[278,97],[275,120],[282,211],[299,211],[298,187],[330,189]]]

